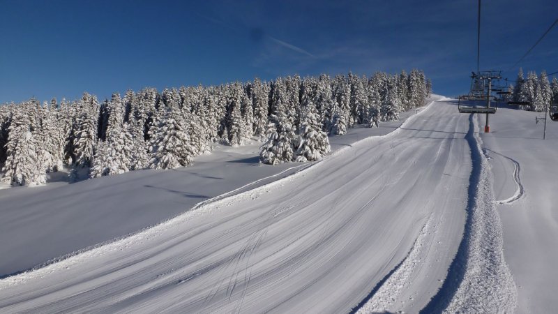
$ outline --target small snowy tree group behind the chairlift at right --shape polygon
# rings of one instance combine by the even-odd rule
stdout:
[[[523,109],[543,112],[550,103],[558,101],[558,80],[553,77],[552,83],[550,83],[544,71],[538,76],[534,71],[529,71],[525,78],[523,70],[520,68],[515,86],[510,87],[509,91],[512,93],[511,100],[531,104],[523,106]]]

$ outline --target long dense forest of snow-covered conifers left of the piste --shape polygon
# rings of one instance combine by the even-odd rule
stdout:
[[[84,93],[68,102],[35,99],[0,106],[0,166],[14,186],[45,184],[64,165],[89,177],[144,168],[187,166],[221,142],[264,141],[262,163],[317,160],[328,134],[355,124],[377,126],[423,105],[430,82],[409,75],[327,75],[181,87],[146,88],[98,102]]]

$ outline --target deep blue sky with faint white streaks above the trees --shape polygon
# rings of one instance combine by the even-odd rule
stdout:
[[[114,91],[370,75],[421,68],[437,94],[469,88],[476,3],[0,0],[0,103]],[[483,0],[481,70],[558,71],[556,0]]]

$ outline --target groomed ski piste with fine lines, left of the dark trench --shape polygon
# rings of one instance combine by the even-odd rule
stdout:
[[[416,311],[435,296],[461,241],[470,127],[454,105],[434,103],[390,135],[291,177],[5,278],[0,306],[349,311],[418,250],[421,267],[387,287],[392,300],[382,304]]]

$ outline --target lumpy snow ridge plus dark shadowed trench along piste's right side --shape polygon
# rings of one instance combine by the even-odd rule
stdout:
[[[421,313],[513,313],[518,304],[517,287],[504,260],[490,164],[481,154],[476,119],[471,115],[470,120],[474,132],[467,136],[476,166],[465,234],[442,289]]]

